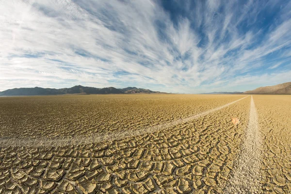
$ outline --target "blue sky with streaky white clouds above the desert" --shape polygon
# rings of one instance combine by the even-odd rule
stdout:
[[[290,0],[0,0],[0,91],[291,81]]]

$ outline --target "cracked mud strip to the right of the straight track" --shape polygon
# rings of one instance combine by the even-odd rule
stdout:
[[[263,138],[261,189],[291,193],[291,97],[254,95]]]

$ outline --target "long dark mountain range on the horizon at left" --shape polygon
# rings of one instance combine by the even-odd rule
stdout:
[[[14,88],[0,92],[0,96],[35,96],[35,95],[65,95],[65,94],[134,94],[134,93],[161,93],[148,89],[127,87],[116,89],[114,87],[95,88],[76,85],[71,88]]]

